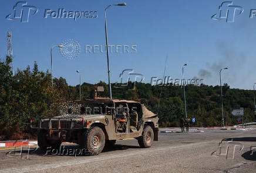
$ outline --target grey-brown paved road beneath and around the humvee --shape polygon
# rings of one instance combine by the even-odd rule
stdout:
[[[42,155],[39,150],[30,150],[28,155],[27,148],[22,155],[18,155],[21,148],[16,148],[14,155],[14,148],[0,148],[0,173],[256,172],[256,154],[250,151],[253,146],[256,150],[256,130],[159,135],[151,148],[139,148],[134,139],[119,140],[114,148],[96,156]]]

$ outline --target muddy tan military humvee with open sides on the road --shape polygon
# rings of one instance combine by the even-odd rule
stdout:
[[[62,116],[40,119],[38,146],[60,148],[63,141],[79,144],[91,155],[112,146],[116,140],[135,138],[140,147],[151,147],[158,140],[159,124],[156,114],[135,101],[117,99],[86,99],[76,101],[79,113],[72,108]]]

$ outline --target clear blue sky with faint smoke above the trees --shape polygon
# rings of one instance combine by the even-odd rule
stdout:
[[[78,56],[68,59],[63,52],[70,53],[70,47],[63,49],[62,53],[54,47],[53,76],[65,78],[69,85],[77,85],[79,74],[76,70],[79,70],[82,82],[107,82],[105,51],[100,53],[96,46],[95,53],[89,53],[86,45],[102,45],[104,50],[105,8],[126,2],[127,6],[110,6],[107,9],[109,45],[115,48],[109,54],[112,82],[120,81],[123,70],[143,75],[143,82],[150,82],[151,77],[162,78],[166,56],[165,76],[173,79],[182,78],[182,67],[187,63],[184,78],[200,78],[207,85],[220,84],[219,71],[224,67],[229,69],[221,72],[221,79],[231,88],[252,89],[256,82],[256,16],[250,18],[251,9],[256,9],[254,0],[232,1],[228,14],[232,17],[232,9],[237,6],[234,22],[211,18],[220,12],[219,6],[224,2],[218,0],[24,0],[27,5],[16,7],[17,11],[23,9],[24,18],[6,19],[9,14],[9,19],[14,19],[17,2],[0,1],[0,57],[3,59],[7,54],[7,32],[11,30],[15,71],[27,65],[32,68],[34,61],[38,63],[39,70],[50,71],[50,47],[64,43],[69,45],[67,40],[72,39],[76,46],[80,46],[80,51],[74,49],[79,52]],[[28,6],[32,9],[26,22]],[[33,15],[35,8],[38,12]],[[241,8],[243,11],[239,14]],[[58,9],[93,11],[95,14],[93,18],[83,16],[76,20],[53,18]],[[226,11],[223,8],[223,12]],[[46,12],[53,12],[52,16],[45,16]],[[120,46],[116,52],[117,45]],[[129,46],[127,51],[122,50],[125,45]]]

